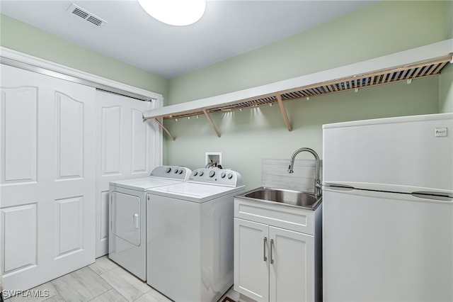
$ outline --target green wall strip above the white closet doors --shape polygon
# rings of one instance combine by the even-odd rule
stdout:
[[[0,14],[0,45],[158,94],[168,80]]]

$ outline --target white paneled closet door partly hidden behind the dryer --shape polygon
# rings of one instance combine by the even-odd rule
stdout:
[[[160,131],[142,120],[155,103],[96,91],[96,257],[108,254],[109,182],[147,177],[161,164]]]

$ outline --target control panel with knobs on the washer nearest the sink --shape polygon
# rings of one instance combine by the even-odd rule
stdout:
[[[239,172],[227,169],[196,169],[188,179],[201,184],[216,184],[219,186],[242,186],[242,177]]]

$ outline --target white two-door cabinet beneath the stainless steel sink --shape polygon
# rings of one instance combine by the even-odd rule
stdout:
[[[308,223],[292,230],[297,220]],[[320,274],[321,206],[311,211],[235,198],[235,291],[258,302],[320,301]]]

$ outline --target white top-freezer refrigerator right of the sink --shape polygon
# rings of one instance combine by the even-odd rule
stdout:
[[[323,301],[453,301],[453,113],[323,125]]]

